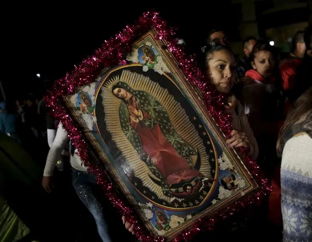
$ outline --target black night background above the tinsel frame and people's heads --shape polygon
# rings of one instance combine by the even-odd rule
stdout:
[[[297,5],[291,8],[293,2]],[[267,29],[276,27],[273,33],[281,35],[277,33],[279,26],[309,20],[309,6],[300,5],[304,2],[307,3],[306,0],[104,1],[71,5],[13,2],[12,6],[3,5],[0,9],[0,81],[11,98],[22,93],[36,93],[44,89],[44,80],[63,77],[104,40],[147,10],[155,9],[169,25],[178,27],[177,37],[186,41],[191,54],[199,51],[213,27],[226,30],[231,42],[241,41],[242,28],[251,22],[258,28],[252,35],[258,33],[256,35],[264,37]],[[263,15],[272,8],[277,10]],[[250,35],[248,30],[247,34]],[[241,43],[236,49],[237,46]],[[41,79],[36,78],[36,73],[41,74]]]

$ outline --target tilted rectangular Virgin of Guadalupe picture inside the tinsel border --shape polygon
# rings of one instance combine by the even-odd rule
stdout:
[[[63,101],[148,231],[169,241],[258,185],[154,36]]]

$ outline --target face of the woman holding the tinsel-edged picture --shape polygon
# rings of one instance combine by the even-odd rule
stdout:
[[[236,61],[228,50],[213,53],[208,61],[208,70],[212,84],[221,93],[229,93],[235,79]]]

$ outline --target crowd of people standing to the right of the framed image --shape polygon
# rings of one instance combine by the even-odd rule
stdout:
[[[250,148],[270,179],[268,218],[283,223],[284,241],[311,241],[311,30],[298,31],[283,57],[265,39],[244,40],[243,59],[232,53],[222,30],[207,40],[202,66],[216,88],[229,94],[230,147]]]

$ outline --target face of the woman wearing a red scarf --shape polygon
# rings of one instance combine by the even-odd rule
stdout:
[[[267,78],[273,72],[275,60],[270,51],[261,50],[255,54],[251,65],[261,76]]]

